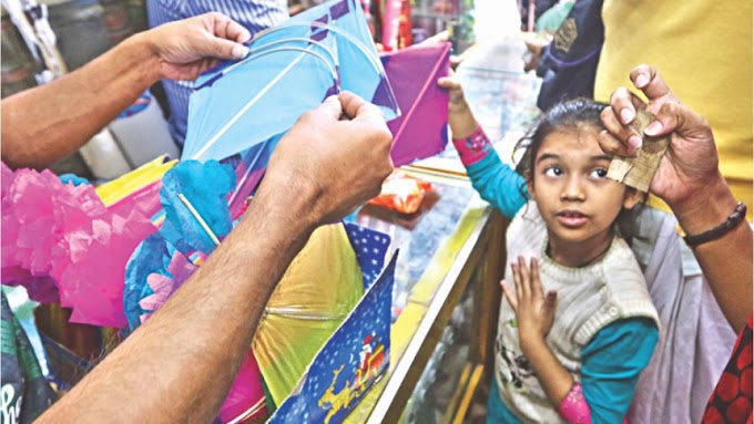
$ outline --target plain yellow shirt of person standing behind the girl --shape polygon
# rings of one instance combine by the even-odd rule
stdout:
[[[631,70],[655,65],[710,121],[720,168],[752,208],[752,1],[604,0],[602,19],[594,97],[607,102],[619,86],[633,89]]]

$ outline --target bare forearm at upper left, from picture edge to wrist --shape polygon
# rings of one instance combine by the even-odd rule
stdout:
[[[2,101],[2,161],[45,167],[89,141],[160,79],[149,38],[134,35],[83,68]]]

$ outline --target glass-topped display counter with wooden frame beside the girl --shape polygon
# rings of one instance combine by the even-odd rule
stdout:
[[[522,71],[524,49],[517,38],[482,43],[458,69],[475,116],[511,164],[516,142],[540,115],[541,81]],[[390,369],[347,421],[483,423],[508,220],[477,197],[452,146],[409,168],[432,180],[439,200],[428,201],[417,217],[375,217],[365,209],[359,219],[401,236],[407,230],[400,224],[411,221],[410,244],[426,237],[432,242],[409,245],[409,258],[399,256],[399,268],[403,259],[409,271],[396,271],[401,289],[394,301],[403,310],[391,331]]]

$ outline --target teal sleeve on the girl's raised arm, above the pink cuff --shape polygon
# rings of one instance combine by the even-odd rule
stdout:
[[[500,209],[506,217],[512,218],[527,204],[529,193],[526,179],[503,164],[495,149],[476,164],[468,165],[466,173],[481,198]]]

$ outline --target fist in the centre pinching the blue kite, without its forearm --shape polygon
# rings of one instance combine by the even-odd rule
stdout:
[[[288,192],[313,225],[333,223],[379,194],[393,172],[393,136],[379,110],[348,92],[298,118],[281,139],[255,200]]]

